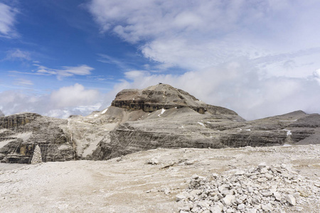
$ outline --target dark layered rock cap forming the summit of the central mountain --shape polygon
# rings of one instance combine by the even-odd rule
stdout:
[[[111,104],[113,107],[152,112],[159,109],[189,107],[200,114],[209,111],[214,114],[236,114],[223,107],[216,108],[201,102],[182,89],[176,89],[169,84],[156,84],[145,89],[123,89]]]

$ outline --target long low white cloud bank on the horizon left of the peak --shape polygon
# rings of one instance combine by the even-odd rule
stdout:
[[[85,89],[81,84],[74,84],[50,94],[8,90],[0,92],[0,99],[0,109],[6,115],[28,111],[43,116],[68,118],[70,114],[87,115],[99,109],[102,94],[95,89]]]

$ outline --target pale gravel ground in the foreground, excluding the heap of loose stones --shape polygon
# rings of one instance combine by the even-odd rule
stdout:
[[[317,185],[319,156],[320,145],[159,148],[106,161],[0,164],[0,212],[179,212],[176,195],[192,175],[232,175],[225,172],[284,163]],[[313,199],[284,211],[319,212],[320,195]]]

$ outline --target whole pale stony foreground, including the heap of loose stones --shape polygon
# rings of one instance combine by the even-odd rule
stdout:
[[[220,193],[223,197],[218,199],[225,198],[225,203],[230,201],[232,205],[226,210],[230,208],[233,212],[246,212],[246,209],[254,208],[257,212],[267,212],[263,209],[270,208],[270,205],[264,203],[268,199],[274,208],[272,212],[281,212],[283,209],[286,213],[318,213],[319,155],[320,145],[223,149],[158,148],[111,160],[71,160],[36,165],[2,164],[0,212],[178,213],[179,209],[190,212],[191,207],[186,202],[176,202],[176,195],[187,192],[187,195],[195,197],[194,201],[188,200],[192,202],[192,209],[193,206],[198,207],[198,204],[201,208],[209,206],[211,209],[214,207],[213,202],[207,203],[205,196],[201,195],[206,195],[206,191],[209,191],[207,187],[212,186],[211,195],[215,197],[214,190],[217,187],[219,193],[223,192]],[[265,164],[261,165],[262,162]],[[194,174],[197,175],[193,176]],[[261,175],[265,177],[260,177]],[[200,185],[201,177],[208,177],[204,185]],[[209,178],[212,178],[213,183]],[[260,178],[270,180],[258,182]],[[288,180],[292,182],[289,183]],[[189,188],[191,183],[194,187]],[[274,190],[274,186],[277,189]],[[239,196],[229,194],[227,197],[228,192],[233,193],[234,190]],[[289,203],[294,203],[289,195],[294,197],[295,205]],[[232,196],[238,200],[233,202]],[[213,205],[210,206],[211,204]],[[203,212],[205,211],[208,212]]]

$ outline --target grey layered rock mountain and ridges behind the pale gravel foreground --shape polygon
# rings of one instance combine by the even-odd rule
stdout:
[[[88,116],[0,116],[2,163],[107,160],[154,148],[237,148],[319,141],[319,114],[294,111],[245,121],[235,111],[201,102],[168,84],[124,89],[110,107]]]

